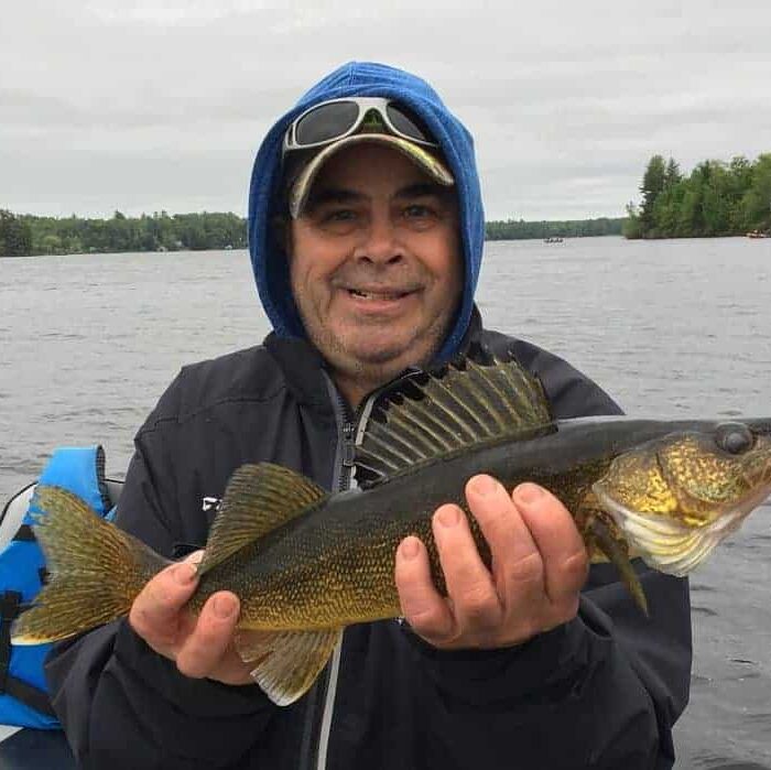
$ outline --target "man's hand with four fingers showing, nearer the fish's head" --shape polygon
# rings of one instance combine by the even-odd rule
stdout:
[[[463,510],[438,508],[432,524],[447,597],[434,587],[417,538],[405,538],[397,552],[399,598],[415,633],[441,649],[489,649],[522,643],[571,620],[588,557],[562,502],[534,484],[509,496],[490,476],[471,478],[466,499],[492,566],[482,563]]]

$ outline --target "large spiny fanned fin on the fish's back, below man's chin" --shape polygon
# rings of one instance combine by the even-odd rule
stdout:
[[[552,425],[541,381],[515,358],[459,358],[384,392],[356,441],[357,478],[371,487],[469,446],[529,437]]]

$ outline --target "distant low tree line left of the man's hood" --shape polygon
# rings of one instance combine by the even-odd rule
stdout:
[[[0,256],[243,249],[246,220],[236,214],[166,212],[110,219],[14,215],[0,209]]]

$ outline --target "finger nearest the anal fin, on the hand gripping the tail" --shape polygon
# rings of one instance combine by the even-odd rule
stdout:
[[[208,676],[220,665],[230,647],[238,622],[238,597],[227,590],[210,596],[193,632],[176,653],[176,668],[195,679]]]

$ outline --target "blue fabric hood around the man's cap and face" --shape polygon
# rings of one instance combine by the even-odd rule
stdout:
[[[474,140],[425,80],[384,64],[349,62],[335,69],[276,121],[260,145],[249,188],[249,252],[260,300],[279,337],[306,336],[292,299],[286,258],[270,227],[271,220],[281,213],[281,147],[284,132],[301,112],[322,101],[346,96],[389,97],[410,107],[439,142],[455,176],[465,283],[455,324],[438,354],[439,360],[446,359],[458,349],[471,317],[485,242]]]

